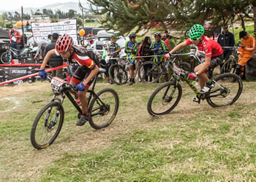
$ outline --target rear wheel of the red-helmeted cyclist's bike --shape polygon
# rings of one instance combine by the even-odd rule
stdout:
[[[99,130],[103,127],[108,127],[116,118],[119,107],[119,98],[115,90],[105,88],[97,93],[97,96],[91,100],[89,113],[91,127]]]

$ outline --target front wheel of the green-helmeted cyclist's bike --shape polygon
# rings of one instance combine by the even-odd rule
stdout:
[[[148,114],[158,116],[168,114],[175,108],[181,100],[181,84],[167,82],[157,88],[148,100]]]

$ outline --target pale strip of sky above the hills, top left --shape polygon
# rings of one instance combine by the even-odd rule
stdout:
[[[21,8],[21,6],[24,7],[44,7],[49,4],[59,3],[59,2],[69,2],[74,1],[78,2],[78,0],[12,0],[12,1],[3,1],[1,0],[1,7],[0,9],[9,10],[9,9],[17,9]],[[83,3],[84,0],[81,0],[81,3]]]

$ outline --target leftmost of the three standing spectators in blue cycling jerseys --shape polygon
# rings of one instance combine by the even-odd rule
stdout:
[[[109,60],[110,63],[106,64],[106,71],[107,71],[107,73],[108,73],[108,69],[110,68],[110,66],[112,64],[117,63],[117,60],[113,59],[113,58],[118,58],[118,52],[121,51],[121,47],[116,43],[116,37],[115,36],[112,36],[110,41],[111,41],[111,44],[108,45],[108,56],[110,56],[110,60]],[[110,74],[113,77],[113,74],[114,74],[113,71]],[[109,79],[109,75],[107,76],[107,79]],[[109,83],[113,84],[113,81],[110,80]]]

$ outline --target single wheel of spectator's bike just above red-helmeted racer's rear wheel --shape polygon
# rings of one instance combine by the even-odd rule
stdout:
[[[122,66],[116,64],[110,66],[108,74],[115,84],[126,84],[128,81],[127,71]]]

